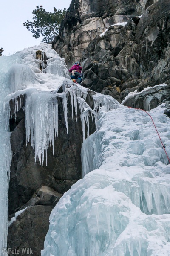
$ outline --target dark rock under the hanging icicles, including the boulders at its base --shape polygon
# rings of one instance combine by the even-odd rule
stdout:
[[[60,90],[60,89],[59,89]],[[62,92],[62,90],[61,90]],[[88,93],[86,101],[89,105],[92,92]],[[9,218],[15,212],[28,207],[14,221],[8,232],[8,248],[21,250],[31,248],[34,256],[40,256],[45,235],[49,226],[51,210],[62,194],[82,177],[81,146],[82,123],[80,110],[77,109],[77,122],[74,113],[72,119],[71,99],[68,97],[68,134],[65,128],[65,118],[62,99],[58,98],[59,126],[58,138],[48,149],[48,165],[43,166],[34,161],[34,151],[30,143],[26,145],[25,114],[23,107],[26,96],[20,96],[21,104],[15,120],[15,103],[11,107],[11,149],[13,153],[9,184]],[[19,102],[19,98],[18,98]],[[90,123],[90,133],[95,125]],[[15,238],[14,238],[15,237]],[[10,254],[9,255],[13,255]],[[21,253],[19,255],[22,255]]]

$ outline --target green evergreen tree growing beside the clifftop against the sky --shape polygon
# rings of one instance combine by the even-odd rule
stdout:
[[[57,10],[54,7],[54,12],[46,12],[42,6],[36,6],[33,13],[33,21],[27,20],[23,23],[24,26],[33,33],[33,37],[40,38],[42,35],[42,42],[50,43],[54,36],[58,35],[59,27],[63,18],[65,17],[66,9]]]

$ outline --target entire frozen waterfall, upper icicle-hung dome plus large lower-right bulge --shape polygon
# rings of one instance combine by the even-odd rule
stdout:
[[[42,52],[42,59],[36,58],[36,51]],[[24,95],[26,140],[34,148],[35,160],[43,164],[57,139],[59,99],[65,128],[69,97],[72,115],[80,109],[83,139],[87,137],[82,145],[83,178],[51,212],[41,255],[168,256],[170,165],[150,117],[100,93],[93,95],[92,109],[86,102],[88,89],[72,83],[64,60],[49,44],[1,57],[0,70],[1,252],[8,230],[9,101],[16,117]],[[169,155],[170,119],[163,114],[165,108],[162,104],[150,114]],[[89,119],[96,123],[96,132],[88,137]]]

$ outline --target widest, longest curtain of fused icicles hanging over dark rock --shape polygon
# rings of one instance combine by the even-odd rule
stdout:
[[[67,111],[67,109],[66,109]],[[67,113],[66,113],[67,114]],[[58,136],[58,101],[51,93],[33,93],[26,97],[26,141],[31,140],[35,161],[47,164],[47,150]]]

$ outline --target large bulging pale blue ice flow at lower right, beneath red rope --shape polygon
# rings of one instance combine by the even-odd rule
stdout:
[[[51,212],[41,255],[168,256],[170,165],[153,123],[122,105],[99,108],[98,130],[82,145],[85,176]],[[163,113],[150,111],[169,155]]]

